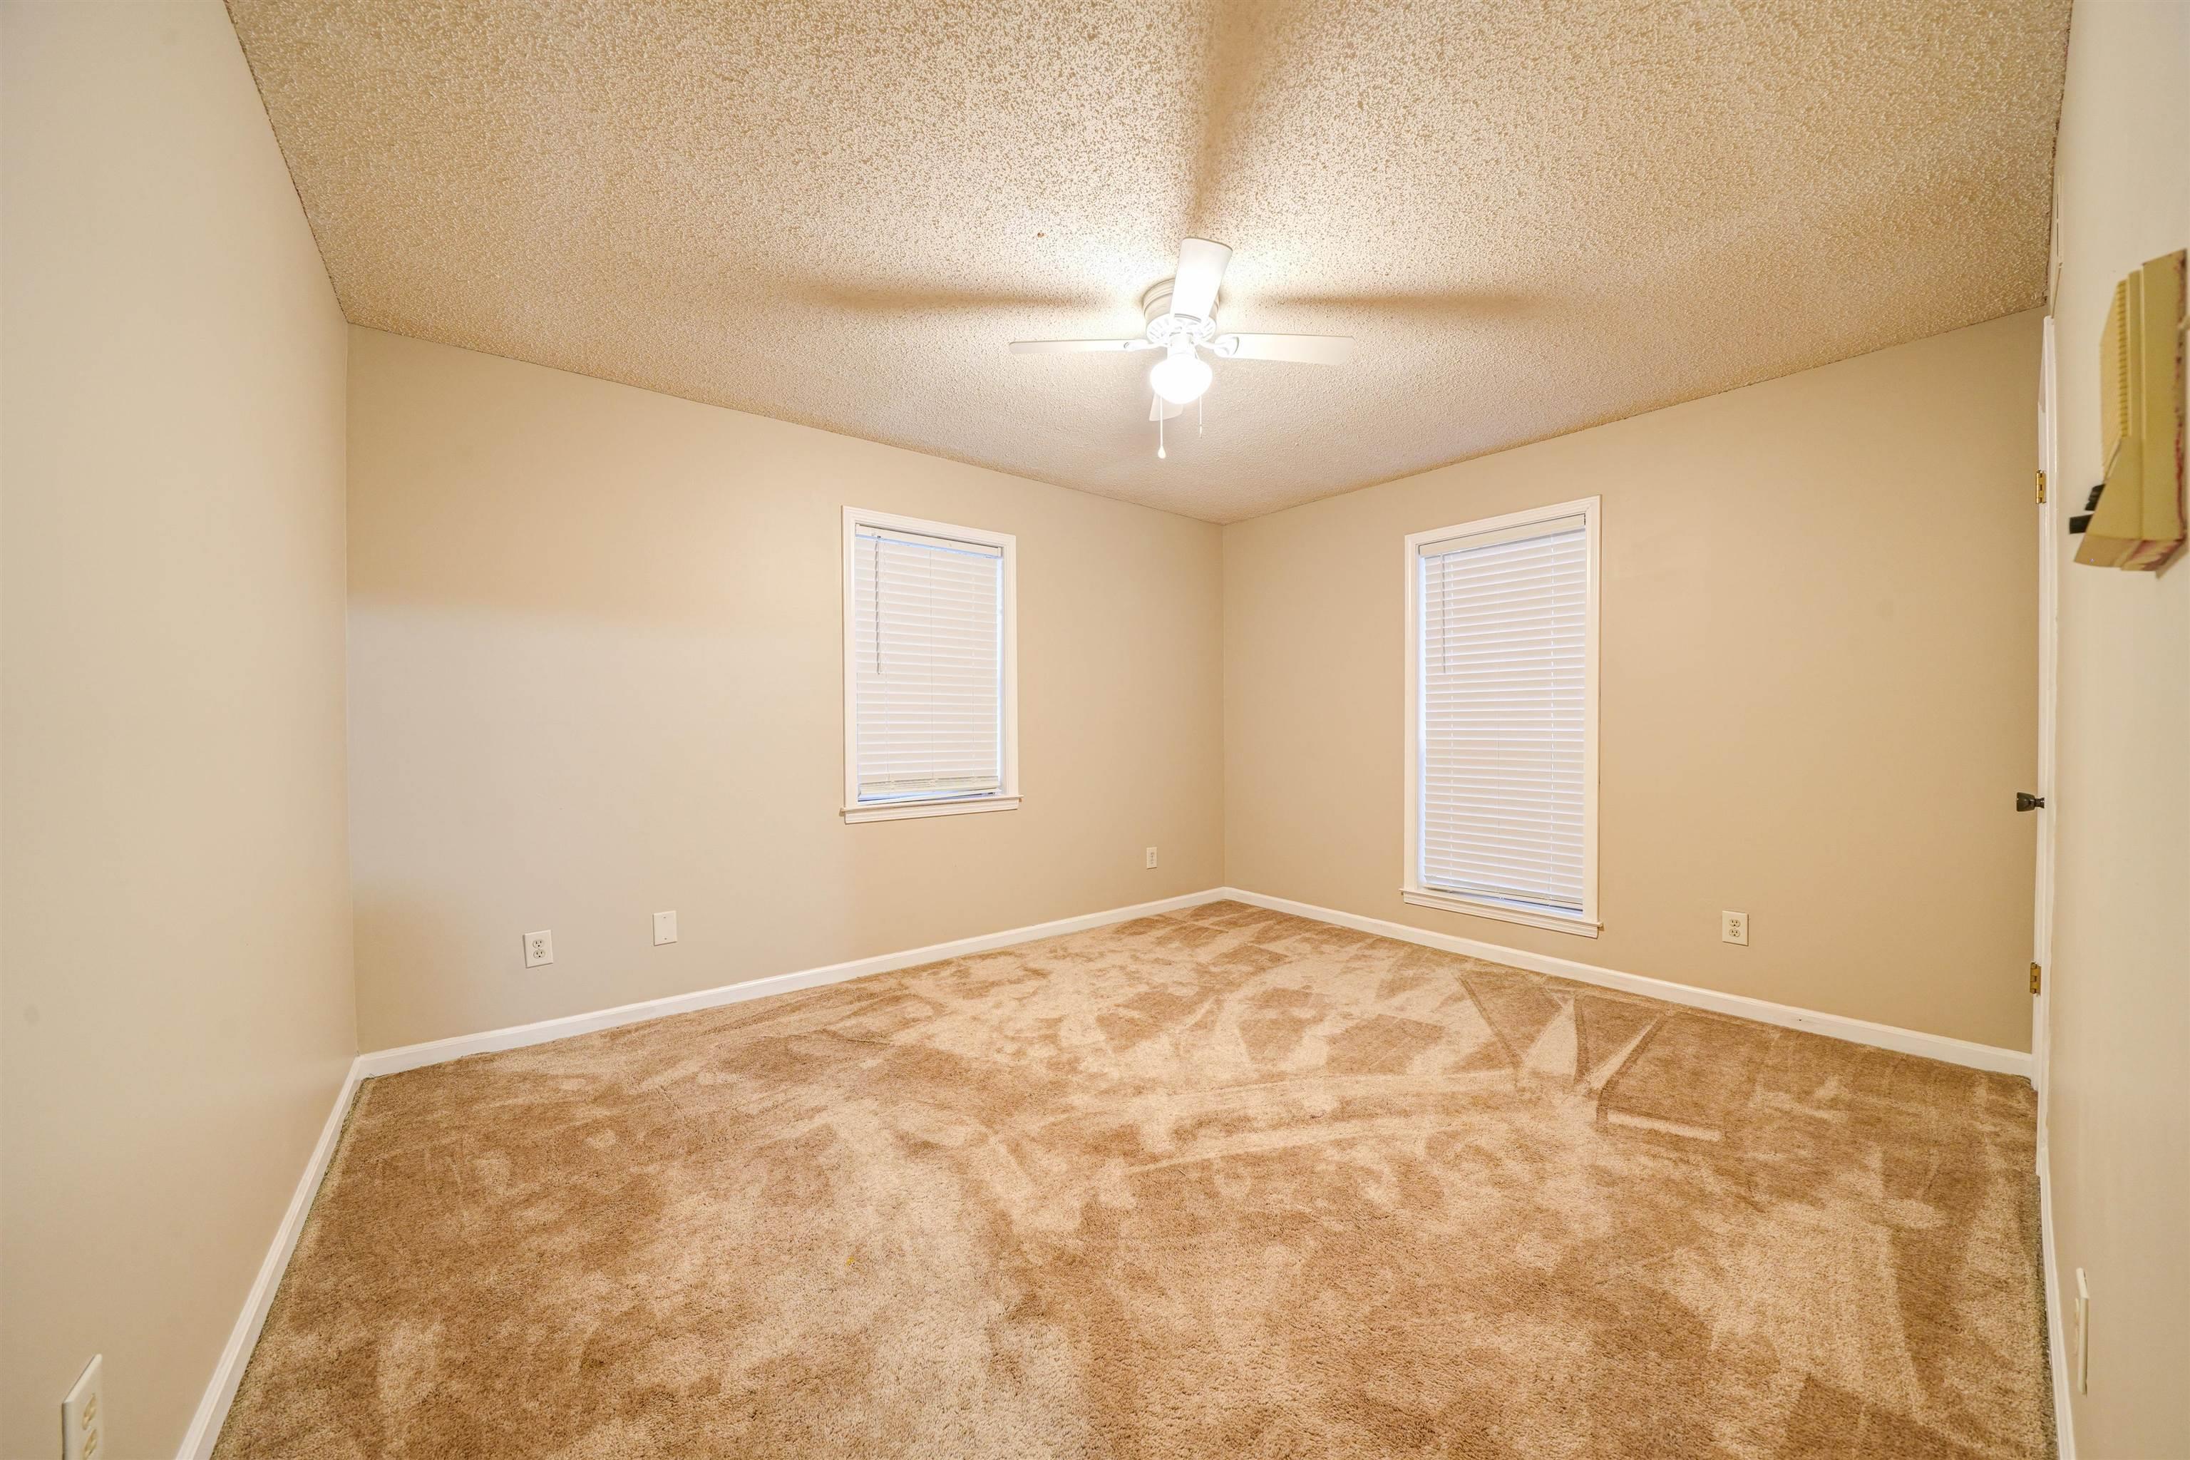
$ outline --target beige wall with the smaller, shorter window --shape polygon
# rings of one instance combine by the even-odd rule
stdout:
[[[1018,534],[1021,810],[837,816],[848,503]],[[364,1046],[1218,884],[1218,543],[1104,497],[353,331]],[[657,908],[679,943],[650,946]],[[554,930],[552,967],[521,965],[530,928]]]

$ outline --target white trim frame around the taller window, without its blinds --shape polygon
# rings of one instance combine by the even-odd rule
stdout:
[[[1459,523],[1454,528],[1434,528],[1430,532],[1410,532],[1406,538],[1406,841],[1402,843],[1402,869],[1404,880],[1399,884],[1399,900],[1419,908],[1443,908],[1448,913],[1467,913],[1469,917],[1494,917],[1498,922],[1522,924],[1526,928],[1548,928],[1553,932],[1575,932],[1579,937],[1597,937],[1603,930],[1603,922],[1597,917],[1597,659],[1599,659],[1599,637],[1597,637],[1597,600],[1601,580],[1601,547],[1599,547],[1599,517],[1601,497],[1581,497],[1577,501],[1561,501],[1548,508],[1529,508],[1526,512],[1507,512],[1505,517],[1487,517],[1474,523]],[[1559,913],[1553,908],[1540,908],[1529,904],[1498,902],[1491,897],[1465,897],[1461,893],[1448,893],[1421,884],[1421,549],[1428,543],[1443,543],[1456,536],[1476,536],[1483,532],[1502,532],[1509,528],[1533,528],[1537,523],[1548,523],[1559,517],[1581,517],[1588,534],[1588,654],[1583,672],[1583,751],[1581,751],[1581,777],[1583,777],[1583,812],[1581,812],[1581,913]]]

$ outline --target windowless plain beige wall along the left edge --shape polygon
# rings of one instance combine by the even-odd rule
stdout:
[[[173,1453],[355,1051],[344,324],[217,2],[9,4],[0,1453]]]

